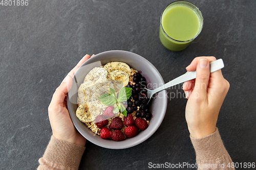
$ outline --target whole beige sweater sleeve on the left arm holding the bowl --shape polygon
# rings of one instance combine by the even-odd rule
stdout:
[[[78,169],[86,147],[51,137],[44,156],[39,159],[37,170],[45,169]]]

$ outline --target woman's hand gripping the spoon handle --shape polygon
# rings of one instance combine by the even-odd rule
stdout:
[[[197,57],[187,71],[197,71],[197,78],[183,84],[188,99],[186,122],[190,135],[201,138],[216,131],[216,123],[221,105],[229,89],[229,83],[221,70],[210,73],[209,62],[215,57]]]

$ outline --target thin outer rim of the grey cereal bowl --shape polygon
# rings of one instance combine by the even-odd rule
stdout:
[[[101,53],[96,54],[95,56],[89,58],[89,59],[88,59],[87,61],[85,61],[80,67],[82,67],[82,66],[84,66],[84,65],[87,65],[87,64],[90,64],[90,61],[91,61],[92,59],[95,59],[97,56],[108,55],[108,54],[113,55],[113,53],[122,53],[122,54],[127,54],[127,55],[135,55],[136,57],[141,58],[142,60],[144,60],[144,62],[146,62],[146,64],[151,65],[151,67],[153,67],[153,68],[155,69],[154,71],[156,71],[156,74],[159,76],[159,78],[160,78],[160,80],[161,80],[161,82],[159,82],[159,83],[164,84],[164,80],[163,80],[162,76],[160,75],[159,71],[157,70],[157,68],[156,68],[150,61],[148,61],[147,59],[145,59],[144,57],[142,57],[142,56],[140,56],[140,55],[138,55],[138,54],[136,54],[136,53],[132,53],[132,52],[129,52],[129,51],[111,50],[111,51],[101,52]],[[99,60],[99,61],[100,61],[100,60]],[[80,67],[79,67],[79,68],[80,68]],[[79,69],[79,68],[78,68],[78,69]],[[78,69],[77,69],[77,70],[78,70]],[[77,70],[76,70],[76,72],[77,72]],[[76,72],[75,72],[74,76],[76,75]],[[73,79],[74,79],[74,76],[73,76]],[[166,95],[166,94],[167,94],[167,90],[165,89],[165,90],[163,90],[163,96],[166,96],[166,99],[163,100],[163,106],[164,106],[164,107],[163,107],[161,113],[159,113],[159,114],[160,114],[160,117],[158,118],[158,119],[159,119],[159,120],[158,120],[158,124],[155,124],[156,126],[153,127],[153,129],[150,131],[150,133],[147,133],[146,135],[144,135],[144,136],[143,136],[142,138],[140,138],[139,140],[137,140],[137,141],[135,141],[135,142],[133,142],[133,143],[129,143],[129,144],[127,144],[127,145],[125,145],[125,146],[122,146],[122,147],[118,147],[118,146],[113,147],[113,146],[110,146],[110,145],[105,144],[105,143],[102,143],[102,142],[97,142],[97,140],[94,140],[94,138],[95,138],[94,136],[87,136],[87,135],[84,135],[84,134],[82,133],[83,130],[82,130],[78,125],[76,125],[76,124],[73,122],[73,120],[72,120],[72,116],[71,116],[71,113],[70,113],[70,110],[71,110],[71,102],[70,102],[70,99],[69,99],[68,96],[67,96],[67,108],[68,108],[69,115],[70,115],[70,118],[71,118],[71,121],[72,121],[74,127],[76,128],[76,130],[77,130],[84,138],[86,138],[86,139],[89,140],[90,142],[92,142],[92,143],[94,143],[94,144],[96,144],[96,145],[98,145],[98,146],[100,146],[100,147],[103,147],[103,148],[108,148],[108,149],[126,149],[126,148],[134,147],[135,145],[138,145],[138,144],[142,143],[143,141],[145,141],[146,139],[150,138],[150,137],[157,131],[157,129],[160,127],[160,125],[162,124],[163,118],[164,118],[164,116],[165,116],[166,110],[167,110],[167,95]],[[113,142],[116,142],[116,141],[113,141]],[[119,141],[119,142],[122,142],[122,141]]]

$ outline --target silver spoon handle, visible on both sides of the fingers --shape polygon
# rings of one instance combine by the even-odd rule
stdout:
[[[210,72],[217,71],[223,67],[224,67],[224,63],[223,63],[222,59],[218,59],[216,61],[210,62]],[[177,77],[176,79],[174,79],[172,81],[169,81],[168,83],[164,84],[163,86],[158,87],[157,89],[154,89],[153,90],[154,92],[153,91],[152,92],[156,93],[156,92],[164,90],[168,87],[172,87],[177,84],[196,79],[196,77],[197,77],[196,71],[188,71],[186,74],[181,75],[180,77]]]

